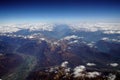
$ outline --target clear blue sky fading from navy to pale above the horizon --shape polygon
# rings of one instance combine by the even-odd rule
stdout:
[[[120,0],[0,0],[0,24],[120,21]]]

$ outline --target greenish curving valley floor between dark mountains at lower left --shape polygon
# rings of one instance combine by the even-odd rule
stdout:
[[[34,56],[19,54],[23,57],[24,62],[17,67],[14,71],[9,72],[7,75],[3,76],[3,80],[25,80],[29,75],[30,71],[34,69],[37,61]]]

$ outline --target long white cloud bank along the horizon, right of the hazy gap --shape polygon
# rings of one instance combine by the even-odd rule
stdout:
[[[120,34],[120,23],[76,23],[68,24],[73,31],[95,32],[103,31],[106,34]]]

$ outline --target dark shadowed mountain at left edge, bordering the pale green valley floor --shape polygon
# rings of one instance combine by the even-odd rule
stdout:
[[[21,63],[23,59],[17,54],[7,53],[0,54],[0,77],[14,71]]]

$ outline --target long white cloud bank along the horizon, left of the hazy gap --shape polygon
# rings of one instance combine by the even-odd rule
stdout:
[[[0,26],[0,33],[12,33],[22,29],[29,29],[30,31],[52,31],[54,24],[48,23],[32,23],[32,24],[10,24]]]

